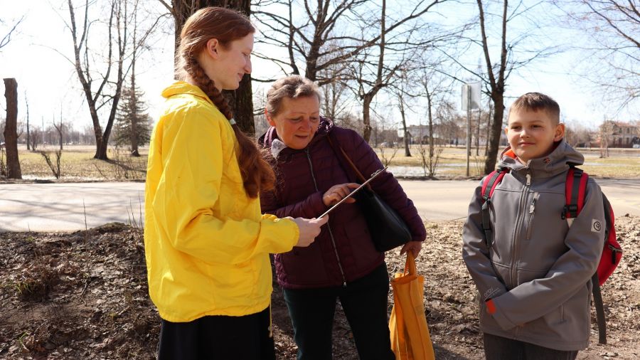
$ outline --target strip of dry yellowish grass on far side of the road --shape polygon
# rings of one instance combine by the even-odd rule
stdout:
[[[38,152],[19,149],[23,179],[55,179],[49,169],[41,150],[50,152],[55,165],[55,150],[58,147],[43,147]],[[439,179],[461,178],[466,175],[465,149],[462,147],[437,147],[442,149],[436,177]],[[375,149],[378,157],[390,159],[395,149]],[[470,176],[480,176],[484,170],[483,149],[476,156],[471,149],[469,159]],[[585,164],[580,166],[591,176],[609,178],[640,178],[640,149],[609,149],[608,158],[599,157],[599,149],[579,149],[585,155]],[[404,148],[398,149],[390,161],[390,170],[396,175],[423,176],[420,166],[422,159],[417,145],[412,146],[412,157],[405,157]],[[61,181],[144,181],[148,148],[139,150],[140,157],[131,157],[127,149],[110,148],[108,162],[93,159],[95,147],[65,146],[60,157]],[[428,154],[427,154],[428,156]],[[6,155],[0,159],[5,160]],[[384,162],[384,160],[383,160]]]

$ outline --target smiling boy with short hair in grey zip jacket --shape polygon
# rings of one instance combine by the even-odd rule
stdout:
[[[584,157],[563,137],[560,107],[529,92],[513,102],[508,173],[491,196],[493,239],[482,229],[481,186],[464,224],[462,256],[480,295],[486,359],[575,359],[590,335],[591,277],[604,246],[599,186],[589,179],[572,224],[562,218],[570,164]]]

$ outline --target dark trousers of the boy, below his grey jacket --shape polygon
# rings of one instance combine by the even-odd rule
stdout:
[[[574,360],[577,351],[562,351],[484,334],[486,360]]]

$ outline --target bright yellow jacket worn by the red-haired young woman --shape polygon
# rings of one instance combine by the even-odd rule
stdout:
[[[269,253],[297,243],[293,221],[249,198],[228,120],[200,88],[166,88],[144,194],[149,295],[170,322],[255,314],[270,304]]]

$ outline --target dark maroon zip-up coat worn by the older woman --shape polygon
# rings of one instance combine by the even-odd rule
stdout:
[[[336,127],[321,119],[318,132],[302,150],[285,148],[275,165],[277,185],[274,191],[260,194],[263,213],[280,218],[314,218],[326,211],[322,195],[336,184],[355,182],[351,169],[343,169],[326,139],[331,132],[358,169],[369,176],[383,165],[364,139],[351,129]],[[277,139],[272,127],[260,137],[260,144],[271,149]],[[336,141],[337,140],[337,141]],[[407,198],[398,181],[390,173],[380,174],[370,182],[373,190],[405,220],[412,240],[425,240],[426,231],[413,202]],[[343,203],[329,216],[315,242],[307,248],[275,255],[278,283],[290,289],[330,287],[352,282],[384,261],[384,253],[373,248],[364,216],[356,203]]]

